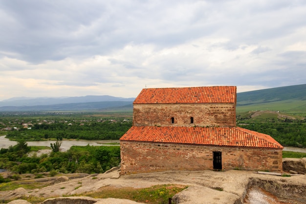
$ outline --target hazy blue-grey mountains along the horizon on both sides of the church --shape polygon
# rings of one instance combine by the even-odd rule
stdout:
[[[237,93],[237,106],[285,101],[306,100],[306,84]],[[135,98],[109,95],[88,95],[60,98],[15,97],[0,101],[0,111],[87,111],[132,110]]]

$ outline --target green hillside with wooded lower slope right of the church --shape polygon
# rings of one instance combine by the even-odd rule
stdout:
[[[306,84],[237,93],[237,125],[306,147]]]

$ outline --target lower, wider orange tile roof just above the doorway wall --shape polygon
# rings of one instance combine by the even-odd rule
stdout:
[[[271,136],[240,127],[133,126],[121,141],[283,148]]]

